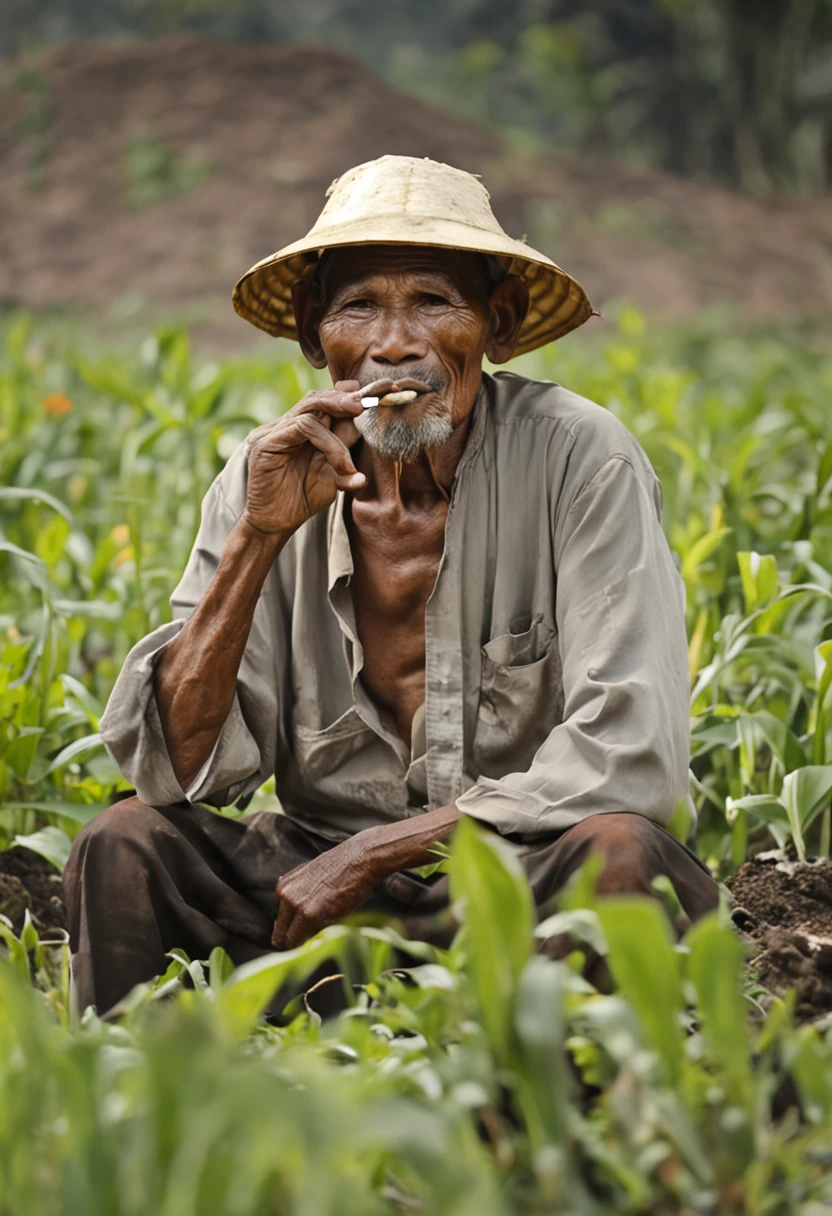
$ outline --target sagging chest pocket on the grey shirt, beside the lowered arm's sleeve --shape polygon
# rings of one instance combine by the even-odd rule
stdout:
[[[499,778],[529,767],[563,721],[561,675],[557,631],[543,615],[521,632],[487,642],[473,739],[478,776]]]

